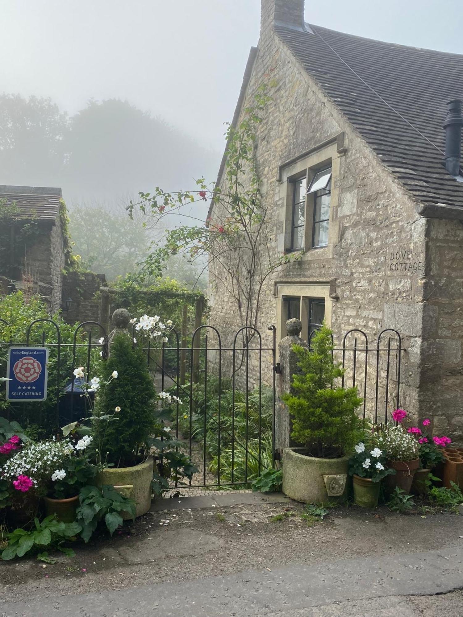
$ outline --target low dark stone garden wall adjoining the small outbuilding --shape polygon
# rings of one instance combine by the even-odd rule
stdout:
[[[104,274],[93,272],[70,272],[63,281],[63,304],[67,298],[72,300],[70,309],[63,312],[67,323],[99,321],[99,300],[95,297],[99,288],[106,284]]]

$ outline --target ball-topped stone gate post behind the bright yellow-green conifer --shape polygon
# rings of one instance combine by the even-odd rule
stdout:
[[[275,451],[280,454],[283,449],[292,447],[294,442],[291,440],[291,416],[288,407],[282,401],[284,392],[291,392],[291,381],[294,373],[299,372],[298,357],[293,351],[294,345],[308,347],[306,341],[302,341],[301,334],[302,322],[299,319],[286,321],[285,336],[278,343],[278,356],[280,358],[279,379],[277,379],[277,399],[275,409]]]

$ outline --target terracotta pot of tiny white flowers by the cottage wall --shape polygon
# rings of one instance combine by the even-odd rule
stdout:
[[[380,424],[376,431],[378,445],[386,454],[388,467],[396,473],[386,478],[388,492],[393,492],[396,486],[410,492],[415,471],[419,468],[419,444],[412,433],[408,433],[401,422],[407,412],[403,409],[394,410],[392,417],[396,424]]]

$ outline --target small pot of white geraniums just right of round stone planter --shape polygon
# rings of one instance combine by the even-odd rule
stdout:
[[[370,441],[365,439],[359,442],[349,459],[354,501],[362,508],[377,507],[382,479],[395,473],[393,469],[388,468],[383,450]]]

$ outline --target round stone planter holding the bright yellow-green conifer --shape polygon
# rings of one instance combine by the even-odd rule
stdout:
[[[304,448],[283,450],[283,492],[304,503],[340,501],[347,494],[349,457],[315,458]]]

